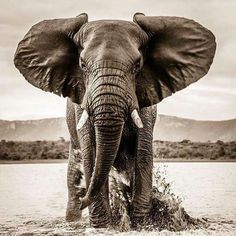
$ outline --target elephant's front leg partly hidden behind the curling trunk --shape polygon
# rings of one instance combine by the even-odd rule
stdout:
[[[81,153],[83,156],[83,166],[86,188],[88,188],[95,163],[95,141],[94,134],[89,127],[89,122],[79,132]],[[100,195],[89,206],[89,218],[92,227],[108,227],[110,225],[111,210],[109,206],[108,181],[101,190]]]

